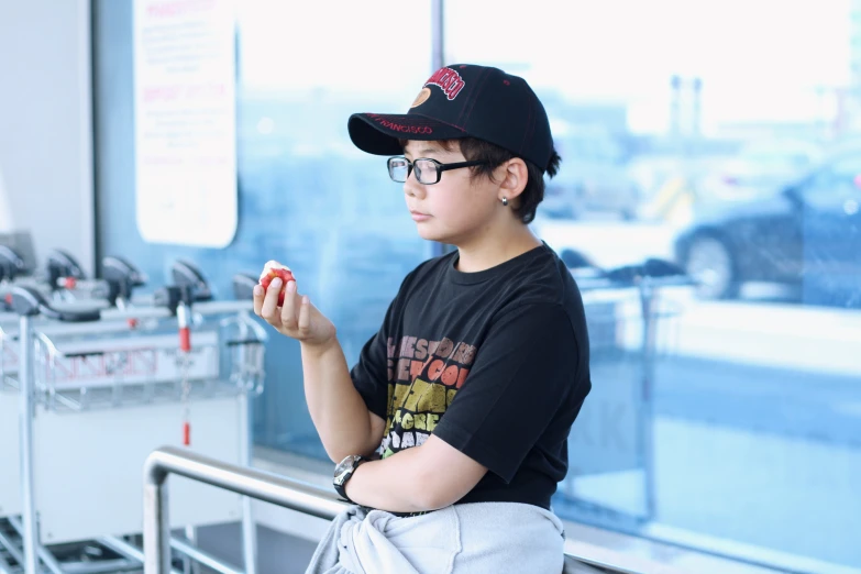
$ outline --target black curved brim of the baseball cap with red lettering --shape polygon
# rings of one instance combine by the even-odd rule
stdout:
[[[419,114],[354,113],[346,124],[356,147],[374,155],[398,155],[398,140],[457,140],[466,132]]]

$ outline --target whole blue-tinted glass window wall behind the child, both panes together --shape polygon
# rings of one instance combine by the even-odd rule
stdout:
[[[279,260],[354,363],[432,249],[346,119],[408,108],[431,71],[430,0],[238,3],[240,222],[224,250],[136,231],[131,7],[93,3],[100,254],[151,288],[194,260],[219,297]],[[529,7],[446,3],[444,59],[526,77],[563,157],[533,229],[581,284],[593,393],[556,511],[781,570],[861,569],[861,11]],[[693,286],[619,273],[647,260]],[[298,344],[274,336],[266,369],[257,443],[325,459]]]

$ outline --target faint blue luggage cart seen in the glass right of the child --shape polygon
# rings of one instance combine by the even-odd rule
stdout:
[[[672,347],[693,282],[647,260],[574,269],[590,343],[593,388],[569,439],[570,472],[554,505],[604,526],[636,529],[655,515],[652,440],[655,357]]]

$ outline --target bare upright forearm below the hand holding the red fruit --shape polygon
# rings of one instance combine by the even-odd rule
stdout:
[[[305,397],[327,454],[340,462],[349,454],[369,454],[371,417],[353,386],[344,352],[338,340],[318,349],[301,345]]]

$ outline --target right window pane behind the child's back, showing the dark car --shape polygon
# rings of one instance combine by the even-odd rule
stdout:
[[[445,62],[523,76],[562,156],[533,229],[581,282],[593,393],[556,511],[861,569],[861,154],[829,165],[861,131],[858,9],[754,4],[451,2]],[[827,202],[786,197],[809,181]],[[650,258],[695,286],[609,288]]]

